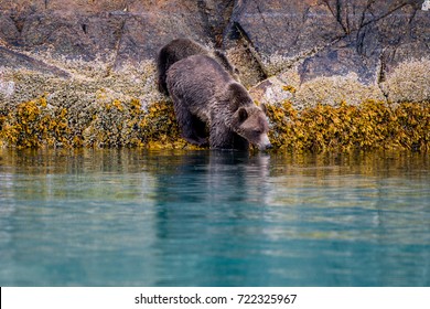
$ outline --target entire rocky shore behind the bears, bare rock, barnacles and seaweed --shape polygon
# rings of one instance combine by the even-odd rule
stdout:
[[[0,0],[0,147],[192,148],[153,62],[187,36],[271,106],[277,148],[428,150],[423,2]]]

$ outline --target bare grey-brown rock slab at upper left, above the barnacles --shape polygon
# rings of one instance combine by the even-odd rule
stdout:
[[[0,1],[3,44],[54,57],[101,60],[119,70],[153,60],[170,40],[221,35],[232,1]]]

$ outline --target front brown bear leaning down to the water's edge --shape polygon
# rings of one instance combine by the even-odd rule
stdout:
[[[244,86],[214,58],[193,55],[168,71],[168,90],[185,140],[214,149],[271,148],[269,125]],[[204,130],[204,126],[208,127]]]

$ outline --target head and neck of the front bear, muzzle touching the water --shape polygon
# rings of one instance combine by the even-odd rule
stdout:
[[[230,128],[248,140],[259,150],[271,148],[267,134],[269,124],[266,117],[266,108],[254,104],[248,92],[238,83],[228,86],[228,96],[233,119]]]

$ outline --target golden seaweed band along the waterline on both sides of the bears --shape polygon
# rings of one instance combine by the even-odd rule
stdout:
[[[428,102],[299,109],[286,99],[267,104],[267,114],[275,151],[430,150]],[[169,99],[144,107],[137,98],[105,99],[78,114],[50,105],[47,95],[0,108],[0,147],[198,149],[180,137]]]

